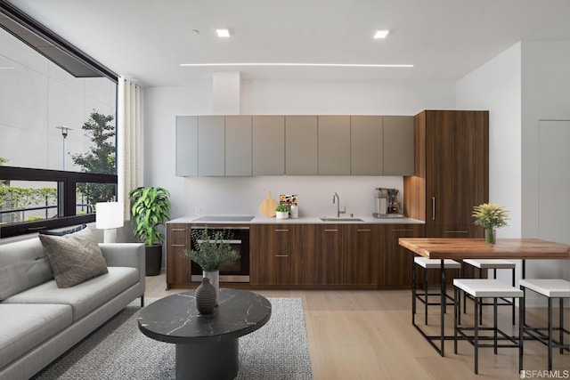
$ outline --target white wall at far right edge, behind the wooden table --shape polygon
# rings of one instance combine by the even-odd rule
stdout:
[[[570,41],[558,42],[525,42],[522,47],[522,201],[523,236],[529,238],[549,239],[570,244],[570,226],[562,230],[543,228],[540,221],[565,223],[565,214],[570,209],[561,208],[568,205],[560,202],[558,209],[545,214],[548,208],[541,207],[543,181],[548,178],[562,176],[566,179],[570,174],[570,163],[560,155],[559,165],[541,166],[540,134],[541,125],[550,125],[552,121],[570,120]],[[570,125],[570,123],[564,123]],[[561,134],[561,136],[567,135]],[[566,150],[568,143],[564,144]],[[552,149],[560,149],[552,145]],[[540,169],[540,170],[539,170]],[[566,197],[570,192],[566,188]],[[564,227],[564,226],[563,226]],[[570,261],[541,261],[527,267],[529,277],[566,278],[570,276]]]

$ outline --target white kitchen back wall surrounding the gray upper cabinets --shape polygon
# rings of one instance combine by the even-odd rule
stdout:
[[[212,84],[144,89],[144,184],[172,193],[172,217],[201,214],[259,215],[267,190],[299,196],[299,212],[332,215],[337,191],[348,213],[370,215],[376,187],[403,190],[402,177],[175,176],[175,116],[212,114]],[[243,81],[242,114],[415,115],[422,109],[455,109],[453,83],[368,81]],[[232,211],[233,210],[233,211]]]

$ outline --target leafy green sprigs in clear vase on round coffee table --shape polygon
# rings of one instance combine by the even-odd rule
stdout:
[[[190,251],[184,249],[183,255],[202,268],[203,277],[208,277],[210,284],[216,289],[216,304],[220,293],[220,267],[240,259],[240,254],[232,248],[231,233],[216,230],[209,233],[208,229],[192,229],[191,237],[197,246]]]

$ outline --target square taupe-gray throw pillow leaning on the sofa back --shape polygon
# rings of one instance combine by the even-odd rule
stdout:
[[[64,236],[39,235],[50,260],[57,287],[73,287],[108,272],[91,230]]]

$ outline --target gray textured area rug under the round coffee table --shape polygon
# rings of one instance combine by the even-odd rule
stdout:
[[[269,322],[240,337],[236,379],[312,379],[301,299],[268,300],[272,304]],[[140,310],[140,301],[135,300],[35,379],[174,379],[175,345],[142,335],[137,325]]]

